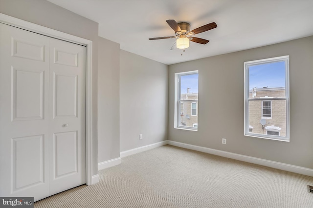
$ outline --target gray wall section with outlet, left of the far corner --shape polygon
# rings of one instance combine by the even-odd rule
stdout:
[[[119,77],[120,151],[166,140],[168,66],[121,50]]]

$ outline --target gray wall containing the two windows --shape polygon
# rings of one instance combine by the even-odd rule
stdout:
[[[285,55],[290,55],[290,142],[244,136],[244,62]],[[174,73],[191,70],[199,70],[198,132],[174,129]],[[169,66],[170,140],[312,169],[312,127],[313,37]]]

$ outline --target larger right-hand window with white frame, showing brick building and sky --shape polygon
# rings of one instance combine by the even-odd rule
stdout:
[[[289,56],[244,65],[245,135],[289,141]]]

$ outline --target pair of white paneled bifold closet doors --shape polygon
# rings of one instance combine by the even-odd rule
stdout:
[[[0,196],[85,184],[86,47],[0,23]]]

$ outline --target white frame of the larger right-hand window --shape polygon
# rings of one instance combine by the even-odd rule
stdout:
[[[244,135],[250,137],[278,140],[278,141],[290,141],[290,89],[289,89],[289,60],[290,57],[282,56],[282,57],[272,57],[260,60],[246,61],[244,62]],[[285,97],[261,97],[261,98],[249,98],[249,67],[261,64],[275,63],[275,62],[285,62]],[[273,101],[273,100],[286,100],[286,136],[276,136],[276,135],[268,135],[268,134],[257,134],[253,132],[249,132],[249,101],[251,100],[261,100],[261,101]],[[263,102],[262,102],[262,118],[263,117]],[[271,115],[272,115],[272,103],[271,103]],[[268,119],[268,118],[267,118]],[[280,134],[280,133],[279,133]]]

